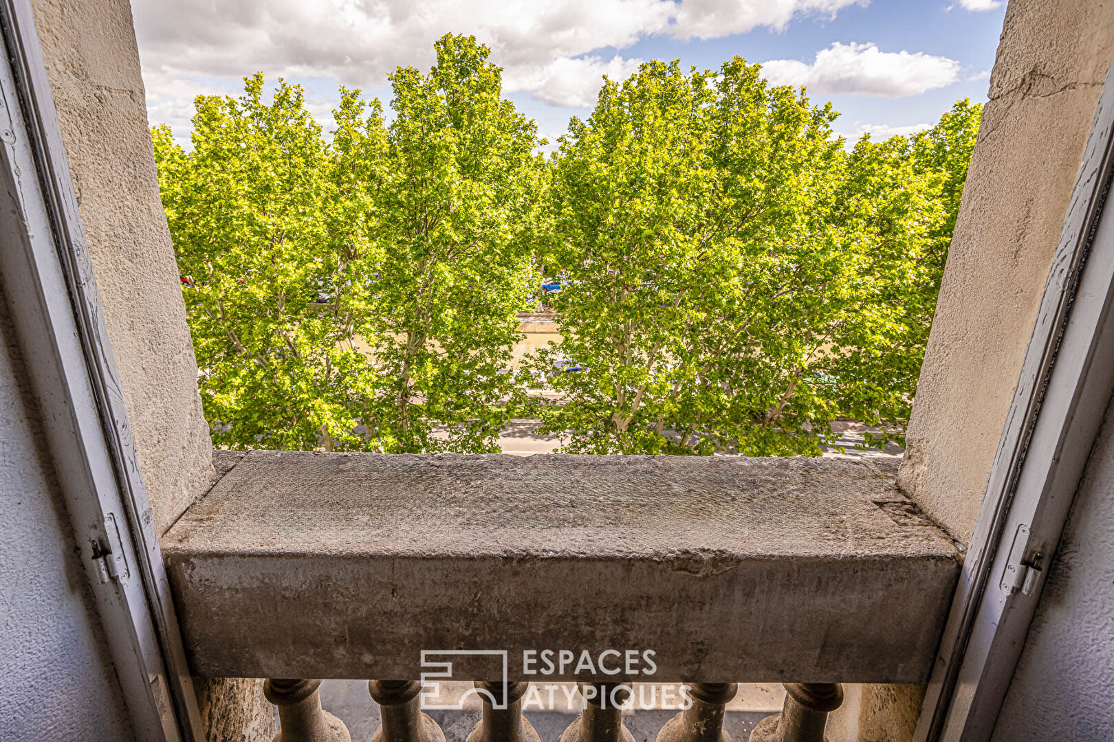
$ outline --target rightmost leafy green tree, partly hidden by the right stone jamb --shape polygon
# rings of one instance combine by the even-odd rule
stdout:
[[[836,218],[861,235],[860,294],[823,360],[836,415],[892,431],[874,443],[905,444],[981,110],[957,101],[931,129],[864,137],[849,157]]]

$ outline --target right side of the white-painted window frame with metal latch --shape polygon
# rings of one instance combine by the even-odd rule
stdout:
[[[1114,65],[925,694],[916,742],[990,739],[1114,388]],[[1026,531],[1027,530],[1027,534]],[[1026,541],[1027,538],[1027,541]],[[1001,582],[1043,554],[1028,592]]]

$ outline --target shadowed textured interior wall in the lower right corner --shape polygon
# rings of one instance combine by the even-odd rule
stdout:
[[[994,742],[1114,740],[1114,405],[1053,555]]]

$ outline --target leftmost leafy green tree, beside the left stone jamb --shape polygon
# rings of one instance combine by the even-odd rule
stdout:
[[[377,373],[354,347],[378,247],[330,217],[321,128],[297,86],[263,76],[198,97],[193,151],[154,130],[202,400],[217,444],[361,448]]]

